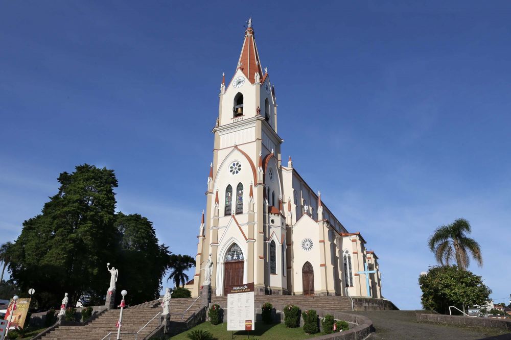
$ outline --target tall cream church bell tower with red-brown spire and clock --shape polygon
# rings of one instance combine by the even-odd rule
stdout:
[[[255,294],[287,294],[283,140],[277,135],[274,88],[261,65],[251,19],[247,23],[234,75],[226,82],[224,74],[220,85],[194,296],[209,254],[213,295],[250,282]]]

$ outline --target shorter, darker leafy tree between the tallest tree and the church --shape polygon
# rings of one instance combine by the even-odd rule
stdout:
[[[155,299],[170,262],[171,253],[158,239],[151,221],[140,214],[117,214],[120,268],[117,285],[129,287],[126,298],[132,304]],[[106,271],[106,269],[105,269]]]

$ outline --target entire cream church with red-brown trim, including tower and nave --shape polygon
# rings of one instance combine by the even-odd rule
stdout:
[[[381,298],[377,255],[360,232],[346,230],[291,157],[283,161],[275,91],[251,23],[219,99],[192,295],[200,294],[211,256],[217,296],[253,282],[259,295]]]

